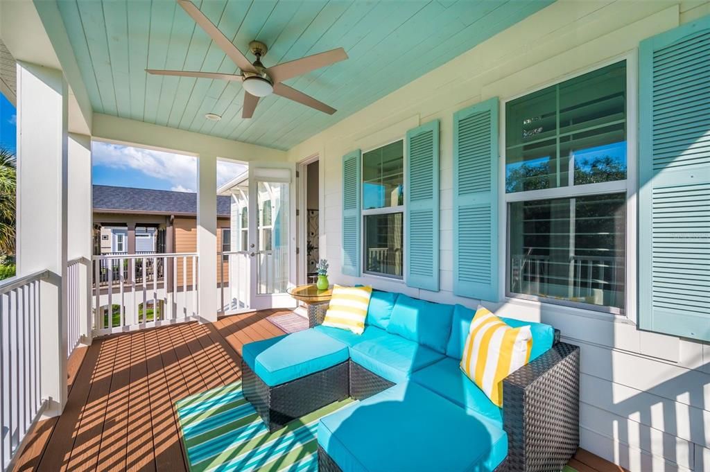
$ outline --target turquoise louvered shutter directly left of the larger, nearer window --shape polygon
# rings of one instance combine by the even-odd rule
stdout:
[[[498,98],[454,114],[454,294],[498,301]]]

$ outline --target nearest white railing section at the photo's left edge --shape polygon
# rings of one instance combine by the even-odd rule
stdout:
[[[49,271],[0,282],[0,463],[9,468],[47,402],[41,397],[40,285]]]

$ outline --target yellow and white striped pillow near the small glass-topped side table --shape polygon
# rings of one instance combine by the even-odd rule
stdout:
[[[355,334],[365,331],[367,307],[370,304],[372,287],[342,287],[335,285],[333,295],[325,312],[323,326],[349,329]]]

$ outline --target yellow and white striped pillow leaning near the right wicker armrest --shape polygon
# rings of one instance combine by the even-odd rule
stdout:
[[[464,344],[461,370],[484,391],[491,402],[503,406],[501,382],[530,360],[530,326],[511,328],[479,306]]]

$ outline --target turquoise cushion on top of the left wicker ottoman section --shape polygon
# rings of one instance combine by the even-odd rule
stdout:
[[[323,371],[349,357],[348,346],[313,329],[244,344],[246,365],[274,387]]]

